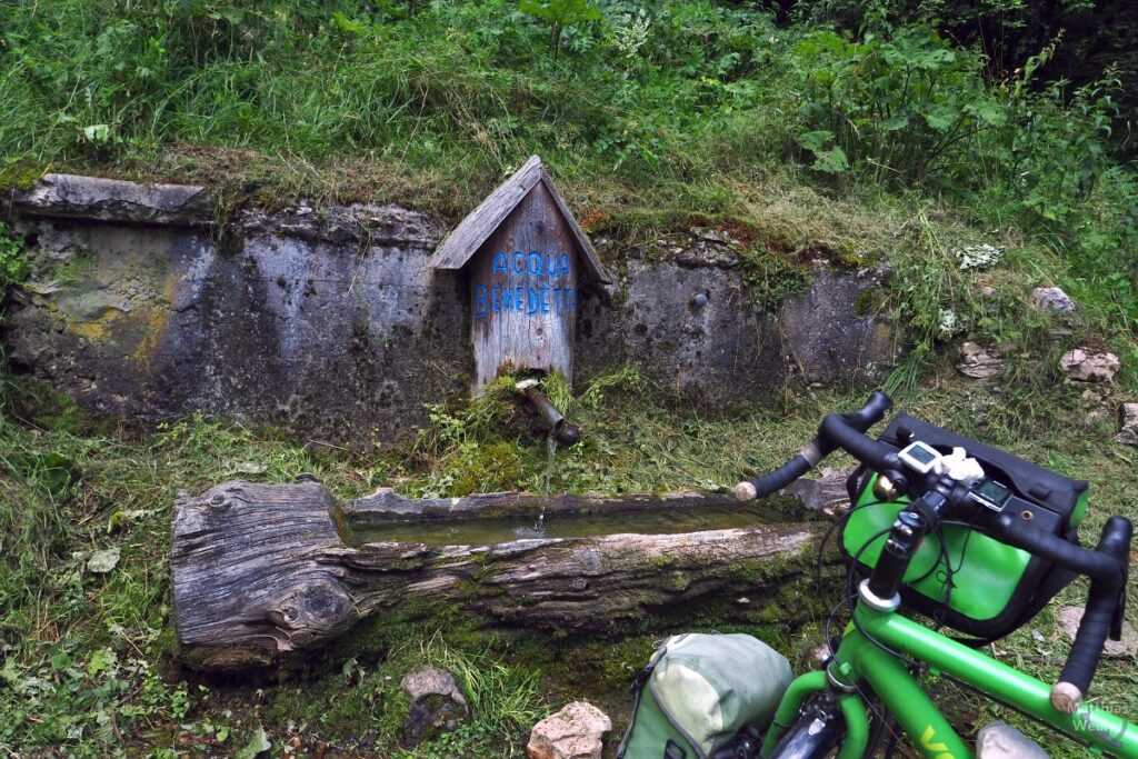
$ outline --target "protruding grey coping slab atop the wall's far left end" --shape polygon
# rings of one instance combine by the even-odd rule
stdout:
[[[213,198],[205,188],[185,184],[44,174],[31,190],[11,190],[7,196],[0,198],[0,208],[28,216],[174,226],[214,223]]]

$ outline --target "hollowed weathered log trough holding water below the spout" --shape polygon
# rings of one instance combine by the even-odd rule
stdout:
[[[732,503],[698,494],[543,500],[504,493],[413,501],[384,489],[341,506],[318,482],[226,482],[174,504],[171,564],[180,657],[200,669],[271,665],[409,602],[459,611],[487,628],[574,634],[611,633],[653,614],[682,622],[712,602],[751,621],[802,613],[800,603],[787,602],[786,589],[805,581],[817,523],[493,545],[352,544],[353,528],[361,525],[536,513],[543,502],[551,519]],[[781,605],[790,608],[767,609],[780,594]]]

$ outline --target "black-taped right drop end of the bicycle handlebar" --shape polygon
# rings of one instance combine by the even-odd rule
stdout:
[[[1071,644],[1071,653],[1067,654],[1058,684],[1052,692],[1052,703],[1061,711],[1078,708],[1082,696],[1090,688],[1090,680],[1098,668],[1099,659],[1103,657],[1103,646],[1106,645],[1111,622],[1114,619],[1125,583],[1125,568],[1130,561],[1132,533],[1133,527],[1130,520],[1122,517],[1111,517],[1106,521],[1106,527],[1103,528],[1103,537],[1098,542],[1095,553],[1107,555],[1116,563],[1116,570],[1113,577],[1096,578],[1090,584],[1087,608],[1079,622],[1079,632]],[[1074,686],[1075,692],[1072,692],[1064,684]],[[1062,696],[1057,699],[1056,693],[1062,694]]]

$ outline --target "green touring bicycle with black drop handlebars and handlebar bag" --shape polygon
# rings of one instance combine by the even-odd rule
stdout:
[[[826,416],[798,456],[736,487],[740,500],[775,493],[838,448],[860,462],[840,523],[851,622],[828,642],[824,669],[791,683],[766,734],[736,741],[729,756],[871,757],[896,723],[927,759],[972,757],[918,684],[926,670],[1034,717],[1095,754],[1138,759],[1138,725],[1085,701],[1107,636],[1120,635],[1130,521],[1111,517],[1098,545],[1080,547],[1086,482],[904,413],[881,438],[868,437],[891,405],[874,393],[859,411]],[[978,650],[1025,624],[1077,575],[1090,578],[1090,592],[1058,683]],[[968,640],[904,617],[901,607]],[[1031,744],[1001,756],[1046,754]]]

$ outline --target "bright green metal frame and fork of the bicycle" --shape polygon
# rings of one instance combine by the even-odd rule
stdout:
[[[762,744],[761,756],[770,753],[785,732],[785,726],[794,721],[799,708],[809,695],[830,691],[838,696],[846,718],[846,741],[838,759],[860,759],[868,742],[868,720],[861,695],[853,686],[858,682],[865,682],[923,757],[971,758],[972,750],[938,711],[905,663],[883,651],[874,643],[876,641],[929,665],[933,673],[949,675],[1042,720],[1097,750],[1096,753],[1138,759],[1138,725],[1087,704],[1081,706],[1073,715],[1065,715],[1052,706],[1050,686],[1046,683],[894,611],[879,611],[858,603],[853,614],[858,625],[851,625],[847,629],[828,671],[803,675],[786,691],[778,706],[775,723]]]

